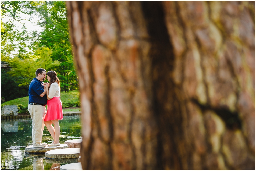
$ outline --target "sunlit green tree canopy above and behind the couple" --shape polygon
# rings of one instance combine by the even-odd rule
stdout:
[[[34,18],[42,31],[27,29]],[[65,1],[1,1],[1,61],[10,63],[7,73],[19,86],[28,88],[44,68],[57,72],[61,91],[77,90]]]

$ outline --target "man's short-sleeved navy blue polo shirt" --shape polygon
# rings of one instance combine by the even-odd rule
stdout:
[[[44,82],[33,78],[28,88],[28,103],[38,103],[38,104],[47,104],[46,93],[43,97],[40,97],[40,94],[44,92]]]

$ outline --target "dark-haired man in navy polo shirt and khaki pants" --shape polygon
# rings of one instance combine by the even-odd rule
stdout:
[[[28,111],[32,118],[32,140],[33,147],[45,147],[42,143],[44,130],[45,105],[47,104],[46,88],[42,81],[45,80],[46,70],[38,68],[36,78],[33,78],[28,89]]]

